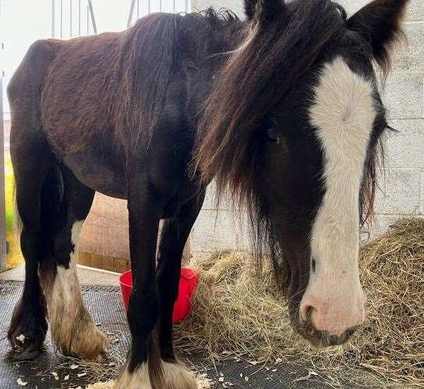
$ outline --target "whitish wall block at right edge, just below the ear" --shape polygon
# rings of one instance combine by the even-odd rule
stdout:
[[[382,99],[389,118],[420,118],[423,108],[423,75],[390,73]]]

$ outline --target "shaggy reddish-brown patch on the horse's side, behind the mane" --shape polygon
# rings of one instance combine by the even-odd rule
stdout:
[[[58,42],[40,106],[43,130],[56,152],[87,149],[95,136],[113,137],[111,111],[122,99],[115,80],[122,36]]]

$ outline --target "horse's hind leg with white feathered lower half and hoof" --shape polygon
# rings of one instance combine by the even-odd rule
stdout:
[[[63,354],[96,359],[105,352],[107,338],[85,308],[77,278],[77,244],[82,223],[92,206],[94,191],[66,168],[63,207],[51,237],[52,261],[40,276],[49,309],[51,338]]]

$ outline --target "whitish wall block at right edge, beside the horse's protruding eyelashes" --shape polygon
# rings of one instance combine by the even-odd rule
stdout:
[[[390,125],[399,132],[387,132],[387,166],[424,169],[424,119],[394,120]]]

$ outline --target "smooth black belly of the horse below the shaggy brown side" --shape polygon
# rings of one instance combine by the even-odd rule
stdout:
[[[107,196],[127,198],[127,180],[125,171],[120,166],[99,161],[87,152],[68,154],[63,157],[63,162],[77,180],[87,187]]]

